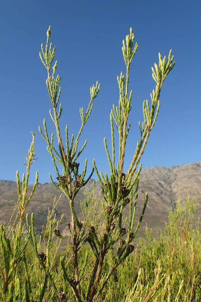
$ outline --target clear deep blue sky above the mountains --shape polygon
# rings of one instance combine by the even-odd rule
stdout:
[[[63,112],[61,132],[65,125],[70,135],[80,127],[79,108],[90,99],[90,86],[98,80],[99,96],[83,131],[80,144],[88,143],[80,167],[88,158],[88,174],[96,159],[99,170],[109,173],[103,145],[109,145],[109,113],[118,104],[117,76],[125,73],[122,40],[130,26],[139,43],[130,69],[133,90],[125,169],[130,164],[140,139],[139,120],[143,121],[142,104],[155,88],[151,66],[158,63],[158,53],[168,55],[172,49],[176,64],[166,78],[161,95],[160,111],[155,127],[141,158],[142,169],[152,166],[188,164],[201,159],[200,141],[200,1],[2,1],[1,27],[1,148],[0,179],[20,179],[23,162],[36,134],[38,159],[30,174],[39,182],[50,182],[49,172],[56,177],[38,126],[47,120],[49,133],[54,131],[49,116],[51,103],[46,87],[46,69],[39,59],[41,43],[52,26],[50,41],[56,45],[57,72],[61,76]],[[55,137],[56,138],[56,137]],[[55,139],[55,146],[57,140]],[[94,179],[96,175],[93,175]]]

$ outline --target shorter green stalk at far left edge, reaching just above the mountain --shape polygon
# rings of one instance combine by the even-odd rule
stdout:
[[[32,132],[31,132],[32,133]],[[14,278],[16,275],[17,267],[21,260],[24,258],[25,249],[27,247],[27,243],[30,238],[31,229],[28,228],[28,235],[25,237],[25,242],[22,246],[21,244],[21,236],[22,236],[22,228],[23,228],[23,219],[24,219],[24,212],[30,203],[30,200],[33,196],[33,193],[36,189],[36,185],[38,182],[38,173],[36,172],[36,180],[33,185],[32,192],[27,198],[27,187],[28,187],[28,180],[30,174],[30,166],[35,160],[36,153],[34,153],[34,137],[35,134],[32,133],[33,140],[30,145],[30,149],[28,150],[28,155],[26,155],[27,163],[25,162],[24,165],[27,168],[26,179],[25,174],[22,177],[22,188],[20,187],[20,178],[19,172],[16,172],[16,179],[17,179],[17,194],[19,196],[19,223],[16,225],[15,230],[12,227],[12,239],[9,238],[6,234],[6,230],[3,226],[0,226],[0,246],[3,254],[4,259],[4,269],[1,270],[2,277],[3,277],[3,287],[2,287],[2,300],[3,302],[7,301],[7,297],[9,295],[9,287],[12,288],[11,293],[14,294]],[[28,214],[27,214],[28,215]],[[9,297],[12,299],[12,297]]]

